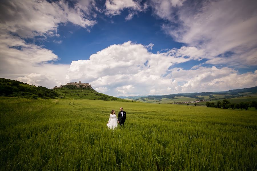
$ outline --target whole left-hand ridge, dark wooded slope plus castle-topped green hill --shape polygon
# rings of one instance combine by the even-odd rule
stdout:
[[[129,100],[99,93],[91,88],[91,85],[88,87],[64,85],[61,88],[48,89],[46,87],[34,86],[33,84],[29,85],[17,80],[9,80],[5,78],[0,78],[0,96],[22,97],[29,99],[73,98],[131,102]]]

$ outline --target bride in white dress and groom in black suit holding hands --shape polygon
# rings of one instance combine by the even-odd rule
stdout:
[[[118,118],[115,114],[115,110],[112,110],[110,114],[110,119],[106,125],[110,129],[115,129],[118,126],[118,123],[122,126],[125,120],[126,120],[126,112],[123,111],[123,107],[121,107],[118,114]]]

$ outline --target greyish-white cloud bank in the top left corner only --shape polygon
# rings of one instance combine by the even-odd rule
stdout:
[[[89,20],[78,6],[70,8],[64,1],[11,0],[1,3],[1,31],[14,32],[21,37],[57,35],[59,23],[71,22],[84,28],[92,27],[95,20]]]

